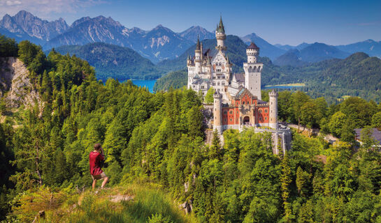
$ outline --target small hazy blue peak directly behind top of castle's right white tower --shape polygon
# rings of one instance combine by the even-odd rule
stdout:
[[[278,47],[275,47],[274,45],[271,45],[266,40],[257,36],[257,34],[255,33],[243,36],[241,37],[241,39],[247,45],[250,45],[251,42],[254,42],[259,47],[259,53],[261,54],[261,56],[267,56],[272,60],[286,52],[285,49],[280,49]]]

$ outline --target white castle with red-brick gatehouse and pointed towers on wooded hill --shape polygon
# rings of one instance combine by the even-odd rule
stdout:
[[[275,150],[281,146],[285,151],[290,146],[291,132],[278,125],[278,93],[274,90],[268,93],[269,102],[261,100],[261,71],[264,65],[258,62],[259,47],[251,43],[246,49],[247,63],[243,63],[245,72],[232,73],[233,64],[225,54],[226,34],[222,17],[215,37],[215,49],[203,49],[202,43],[197,40],[194,56],[188,56],[188,89],[205,96],[213,87],[213,129],[220,134],[227,129],[243,130],[252,126],[257,132],[272,132]],[[282,145],[278,145],[278,139]]]

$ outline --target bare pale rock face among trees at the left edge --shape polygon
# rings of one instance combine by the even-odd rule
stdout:
[[[24,63],[15,57],[0,60],[0,96],[5,98],[7,107],[33,107],[35,102],[41,105],[41,98],[31,84]]]

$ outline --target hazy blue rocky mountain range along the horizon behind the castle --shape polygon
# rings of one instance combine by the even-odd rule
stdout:
[[[62,18],[48,22],[25,10],[21,10],[14,16],[4,15],[0,20],[0,33],[15,38],[17,42],[30,40],[32,43],[43,46],[45,50],[62,45],[86,45],[97,42],[119,45],[134,49],[153,63],[177,58],[194,45],[198,37],[200,40],[215,38],[213,32],[207,31],[201,26],[192,26],[180,33],[161,25],[145,31],[137,27],[129,29],[111,17],[103,16],[82,17],[69,26]],[[381,41],[374,40],[338,46],[316,45],[315,43],[291,46],[272,45],[255,33],[240,38],[246,44],[256,43],[261,49],[261,56],[267,56],[281,65],[294,66],[296,64],[300,66],[309,61],[343,58],[345,53],[348,55],[354,52],[381,56]],[[305,49],[311,45],[313,49]],[[290,49],[292,51],[289,51]],[[303,49],[305,49],[304,52]],[[315,55],[308,56],[314,53]]]

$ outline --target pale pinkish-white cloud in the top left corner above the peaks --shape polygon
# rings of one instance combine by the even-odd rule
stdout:
[[[50,17],[54,13],[76,13],[77,10],[105,3],[103,0],[0,0],[0,15],[15,15],[27,10],[38,17]],[[0,19],[1,19],[0,17]]]

